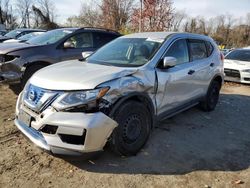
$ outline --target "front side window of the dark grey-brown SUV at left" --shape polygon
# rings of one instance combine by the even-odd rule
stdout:
[[[66,42],[73,44],[73,48],[92,48],[93,37],[91,33],[80,33],[70,37]]]

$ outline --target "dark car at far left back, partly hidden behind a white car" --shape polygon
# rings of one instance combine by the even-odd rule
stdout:
[[[31,32],[44,32],[44,31],[45,30],[42,29],[28,29],[28,28],[15,29],[6,33],[4,36],[0,36],[0,43],[8,39],[17,39]]]

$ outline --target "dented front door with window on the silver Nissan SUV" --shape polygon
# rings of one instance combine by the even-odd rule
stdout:
[[[178,39],[172,43],[164,57],[175,57],[177,65],[172,68],[156,68],[158,90],[156,102],[158,114],[182,107],[194,97],[194,65],[189,62],[189,52],[186,39]]]

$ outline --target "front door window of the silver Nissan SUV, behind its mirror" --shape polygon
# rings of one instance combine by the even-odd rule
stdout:
[[[189,62],[187,42],[184,39],[174,42],[168,49],[165,57],[175,57],[177,64]]]

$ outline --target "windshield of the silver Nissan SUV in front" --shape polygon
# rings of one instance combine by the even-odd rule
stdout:
[[[164,39],[118,38],[88,58],[89,63],[112,66],[141,66],[147,63]]]

